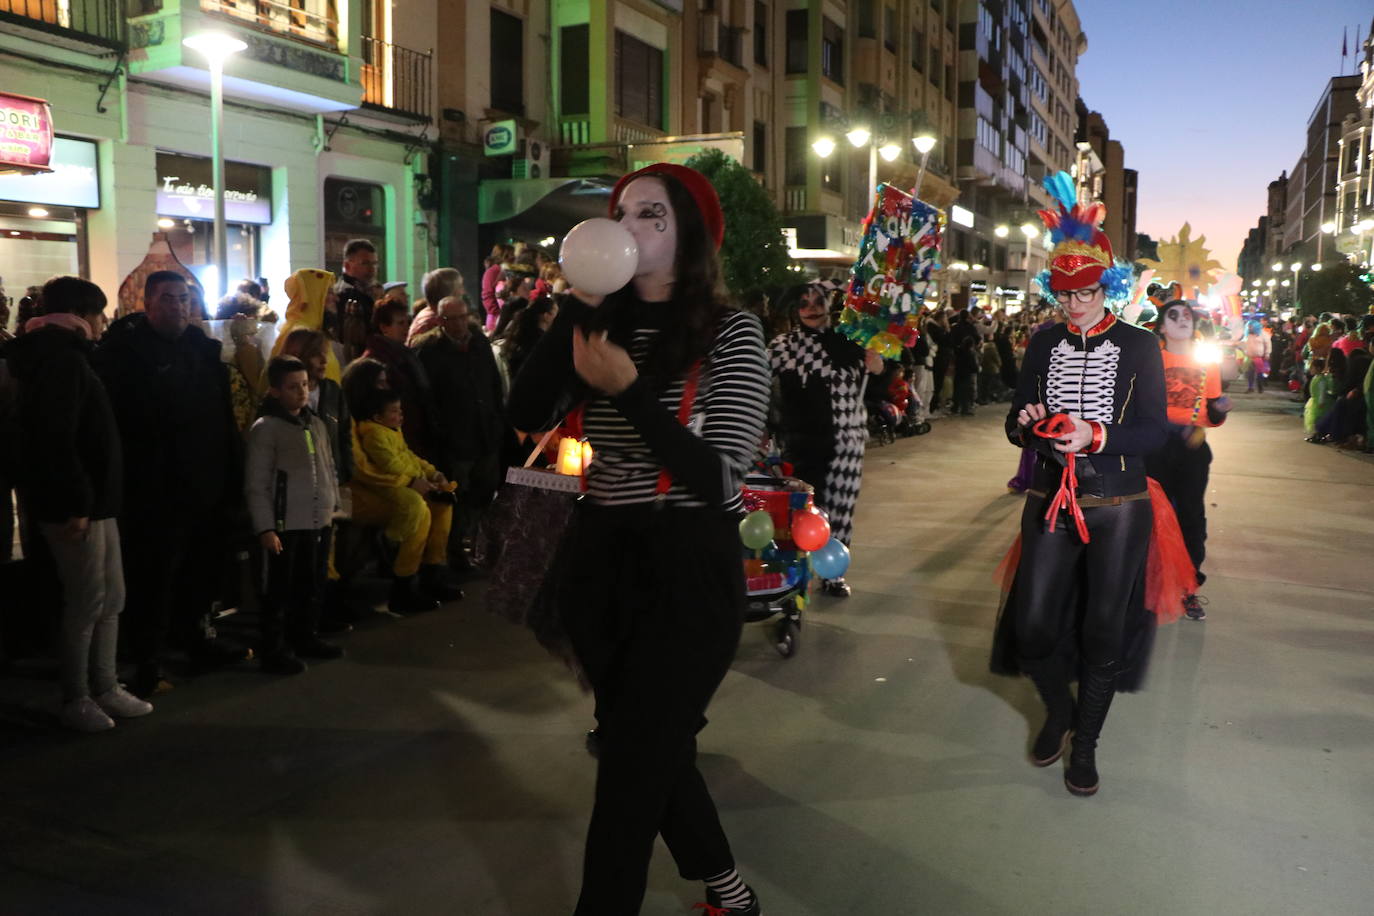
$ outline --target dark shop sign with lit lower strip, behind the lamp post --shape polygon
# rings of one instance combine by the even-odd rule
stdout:
[[[213,220],[214,163],[199,157],[158,154],[158,216]],[[224,218],[272,222],[272,170],[246,162],[224,163]]]

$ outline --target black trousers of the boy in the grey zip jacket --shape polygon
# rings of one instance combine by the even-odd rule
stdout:
[[[262,654],[272,655],[315,636],[328,578],[330,531],[283,531],[282,552],[262,555]]]

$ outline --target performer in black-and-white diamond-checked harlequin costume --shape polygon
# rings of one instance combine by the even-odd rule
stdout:
[[[863,482],[868,413],[866,374],[882,371],[882,357],[830,327],[823,287],[793,288],[796,327],[768,345],[775,380],[775,433],[796,477],[816,489],[816,507],[830,515],[830,533],[845,547],[853,534],[855,504]],[[844,578],[822,588],[849,595]]]

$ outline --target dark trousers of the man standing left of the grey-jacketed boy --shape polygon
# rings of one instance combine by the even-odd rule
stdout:
[[[139,665],[155,665],[174,641],[195,650],[220,588],[225,551],[217,512],[120,519],[125,610],[121,636]]]

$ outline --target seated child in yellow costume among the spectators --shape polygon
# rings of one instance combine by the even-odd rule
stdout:
[[[354,427],[349,482],[353,522],[379,526],[389,541],[400,545],[392,564],[390,610],[433,610],[437,602],[463,596],[444,581],[458,486],[405,445],[400,394],[374,391],[368,416]]]

